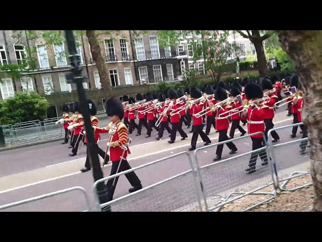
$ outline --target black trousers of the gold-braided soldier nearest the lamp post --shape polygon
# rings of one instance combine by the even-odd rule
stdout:
[[[121,164],[120,164],[120,168],[119,168],[119,170],[117,170],[117,168],[119,167],[119,164],[120,164],[120,161],[112,161],[112,168],[111,168],[110,175],[114,175],[114,174],[116,174],[116,172],[119,173],[119,172],[122,172],[122,171],[125,171],[128,169],[131,169],[131,166],[127,160],[122,160]],[[137,175],[135,174],[134,171],[126,173],[125,176],[132,187],[138,187],[141,185],[141,181],[140,181],[139,177],[137,177]],[[115,182],[114,182],[114,179],[115,179]],[[110,200],[113,199],[113,195],[114,195],[114,191],[115,191],[118,179],[119,179],[119,176],[109,179],[107,181],[106,186],[107,186],[108,195],[109,195]],[[113,182],[114,182],[114,186],[113,186]]]

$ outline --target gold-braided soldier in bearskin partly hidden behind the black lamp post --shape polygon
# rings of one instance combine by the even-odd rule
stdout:
[[[90,109],[90,118],[91,118],[91,126],[93,128],[94,131],[94,139],[95,139],[95,146],[97,149],[97,153],[104,159],[104,164],[106,165],[107,162],[109,161],[109,155],[106,154],[99,146],[98,146],[98,142],[100,140],[100,134],[98,132],[96,132],[96,128],[98,128],[99,126],[99,119],[95,116],[97,113],[97,108],[95,103],[92,100],[88,100],[89,103],[89,109]],[[85,140],[84,143],[86,145],[86,162],[85,162],[85,167],[83,169],[81,169],[82,172],[86,172],[91,170],[91,163],[90,163],[90,149],[88,146],[88,139],[86,136],[86,131],[84,131],[84,135],[85,135]]]

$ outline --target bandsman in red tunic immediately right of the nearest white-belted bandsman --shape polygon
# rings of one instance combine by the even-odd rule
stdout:
[[[273,84],[272,82],[265,78],[262,81],[262,89],[264,90],[264,92],[267,92],[271,89],[273,89]],[[276,92],[271,93],[268,95],[269,97],[269,101],[266,101],[265,104],[268,106],[266,107],[265,110],[265,119],[264,119],[264,123],[265,123],[265,138],[266,140],[268,140],[268,131],[274,128],[274,124],[273,124],[273,118],[274,118],[274,104],[275,102],[277,102],[277,95]],[[275,143],[277,141],[279,141],[280,137],[278,136],[278,134],[276,133],[276,131],[272,131],[271,132],[273,140],[272,142]]]

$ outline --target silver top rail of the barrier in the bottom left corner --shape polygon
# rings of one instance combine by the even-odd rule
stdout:
[[[81,193],[85,197],[86,206],[87,206],[88,209],[85,210],[85,211],[83,211],[83,212],[91,211],[89,197],[88,197],[88,195],[86,193],[86,190],[84,188],[82,188],[82,187],[67,188],[67,189],[63,189],[63,190],[56,191],[56,192],[43,194],[43,195],[40,195],[40,196],[37,196],[37,197],[33,197],[33,198],[21,200],[21,201],[18,201],[18,202],[5,204],[5,205],[0,206],[0,210],[4,210],[4,209],[8,209],[8,208],[20,206],[20,205],[23,205],[23,204],[27,204],[27,203],[30,203],[30,202],[35,202],[35,201],[38,201],[38,200],[46,199],[46,198],[49,198],[49,197],[57,196],[59,194],[64,194],[64,193],[68,193],[68,192],[72,192],[72,191],[76,191],[76,190],[77,191],[81,191]]]

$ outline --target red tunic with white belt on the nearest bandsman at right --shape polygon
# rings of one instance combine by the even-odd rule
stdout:
[[[247,110],[247,126],[248,126],[248,134],[253,134],[256,132],[265,131],[264,125],[265,118],[265,108],[255,107],[252,109],[252,106],[249,106]],[[263,138],[262,134],[254,135],[252,138]]]

